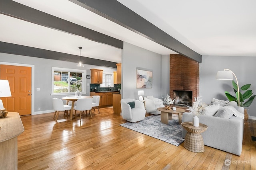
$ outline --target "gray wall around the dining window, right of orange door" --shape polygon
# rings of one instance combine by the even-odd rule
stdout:
[[[116,68],[110,67],[102,67],[95,65],[84,64],[83,68],[76,67],[77,63],[71,63],[67,61],[59,61],[59,60],[50,60],[50,59],[42,59],[36,57],[27,57],[21,55],[12,55],[6,53],[0,53],[0,63],[6,62],[10,63],[10,65],[18,64],[30,64],[34,65],[34,81],[32,82],[32,95],[34,95],[34,110],[32,110],[32,114],[40,114],[40,113],[49,113],[52,112],[52,98],[62,98],[66,95],[54,95],[51,96],[51,80],[52,80],[52,67],[61,67],[61,68],[72,68],[72,69],[81,69],[86,70],[86,75],[90,75],[91,68],[102,69],[104,72],[113,72],[116,71]],[[13,63],[13,64],[12,64]],[[90,96],[90,79],[86,78],[86,94],[83,96]],[[36,91],[36,88],[40,88],[40,91]],[[40,107],[40,111],[37,111],[37,108]]]

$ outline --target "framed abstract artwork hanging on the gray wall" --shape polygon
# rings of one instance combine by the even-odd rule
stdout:
[[[136,69],[136,88],[152,88],[153,72]]]

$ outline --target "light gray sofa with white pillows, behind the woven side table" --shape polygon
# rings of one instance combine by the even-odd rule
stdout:
[[[231,106],[220,106],[216,111],[216,114],[218,115],[214,114],[211,116],[201,114],[199,117],[199,123],[203,123],[208,126],[208,129],[201,133],[201,135],[204,139],[204,145],[240,156],[242,152],[244,134],[244,119],[242,118],[242,115],[244,114],[244,107],[234,107],[240,112],[238,114],[238,112],[234,110],[234,114],[238,114],[238,117],[235,115],[230,117],[229,115],[228,117],[230,118],[228,118],[225,117],[224,114],[232,114],[229,107]],[[190,113],[183,113],[182,122],[192,121],[193,116],[194,115]],[[187,131],[183,128],[183,138],[185,138],[186,133]]]

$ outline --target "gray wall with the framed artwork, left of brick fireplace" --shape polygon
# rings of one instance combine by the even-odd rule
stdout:
[[[163,66],[162,66],[163,64]],[[153,71],[153,88],[136,88],[136,68]],[[144,96],[153,95],[162,98],[168,93],[169,57],[163,56],[124,42],[122,50],[122,98],[137,99],[138,90],[144,90]],[[162,82],[162,77],[164,82]],[[162,84],[166,86],[162,88]],[[143,96],[143,97],[144,97]]]

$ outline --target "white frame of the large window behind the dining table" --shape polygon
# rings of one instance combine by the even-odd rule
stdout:
[[[75,92],[54,93],[54,71],[81,72],[82,73],[82,94],[86,94],[86,76],[85,76],[86,75],[86,70],[78,70],[78,69],[72,69],[72,68],[61,68],[61,67],[52,67],[52,92],[51,92],[51,96],[75,94]]]

